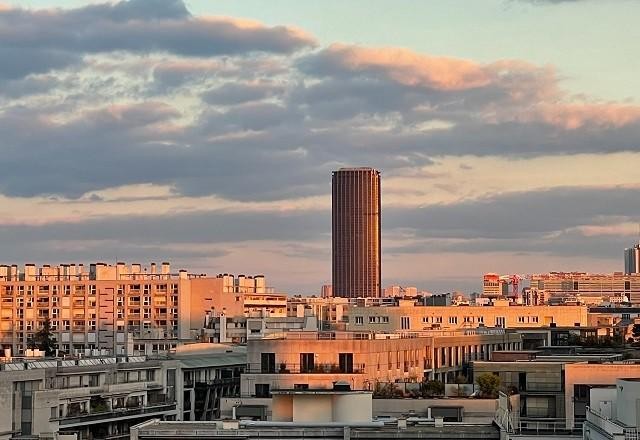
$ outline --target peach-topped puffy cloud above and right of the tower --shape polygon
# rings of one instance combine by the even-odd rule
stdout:
[[[370,100],[384,93],[394,97],[387,105],[370,108],[400,104],[407,119],[431,116],[455,123],[464,117],[486,126],[525,123],[563,130],[589,125],[619,128],[640,122],[640,106],[576,101],[560,89],[553,67],[521,60],[482,64],[401,48],[334,44],[298,64],[306,74],[321,79],[307,94],[320,97],[324,107],[338,93],[325,94],[323,89],[349,89],[339,95],[349,108],[354,105],[350,97],[357,99],[364,95],[362,90],[376,88]]]

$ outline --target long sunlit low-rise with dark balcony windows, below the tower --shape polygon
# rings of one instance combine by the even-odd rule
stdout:
[[[452,382],[475,359],[494,350],[521,348],[519,335],[503,330],[481,333],[289,332],[249,340],[241,393],[268,397],[274,389],[331,388],[345,381],[351,389],[373,390],[380,382]]]

